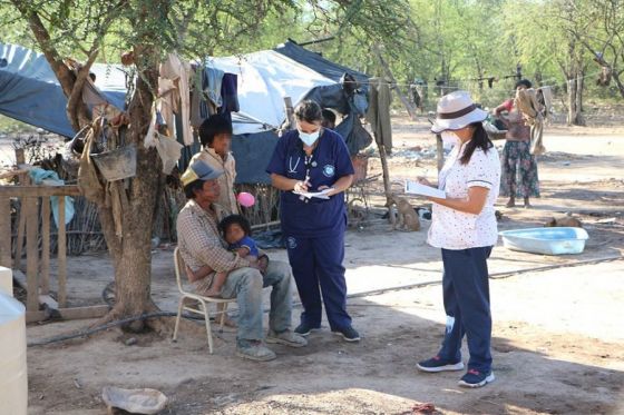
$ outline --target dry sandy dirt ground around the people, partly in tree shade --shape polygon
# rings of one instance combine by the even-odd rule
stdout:
[[[427,123],[396,118],[393,126],[392,178],[433,177],[435,160],[417,160],[412,151],[431,147]],[[499,200],[499,227],[542,226],[572,211],[591,239],[575,256],[496,247],[489,263],[491,385],[466,391],[457,386],[461,374],[416,370],[418,359],[437,350],[443,330],[440,255],[425,243],[428,223],[418,233],[392,231],[371,214],[347,236],[348,308],[363,336],[359,344],[341,342],[325,325],[308,347],[276,346],[277,359],[253,363],[235,356],[232,329],[217,334],[214,355],[195,323],[183,327],[177,343],[168,334],[109,329],[29,347],[29,413],[105,414],[101,388],[118,386],[162,391],[169,397],[164,414],[411,414],[417,403],[431,403],[439,414],[624,414],[624,128],[550,127],[545,140],[542,198],[533,209],[506,209]],[[369,176],[378,174],[379,159],[369,167]],[[365,190],[379,208],[381,184]],[[284,259],[285,253],[271,257]],[[174,310],[172,248],[156,249],[153,263],[154,298]],[[113,279],[106,256],[72,257],[68,266],[70,302],[101,302]],[[295,307],[293,324],[300,312]],[[87,324],[31,325],[28,339]],[[129,337],[134,345],[126,345]]]

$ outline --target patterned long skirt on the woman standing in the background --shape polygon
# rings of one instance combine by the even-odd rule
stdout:
[[[539,197],[537,162],[529,141],[507,141],[503,148],[500,196]]]

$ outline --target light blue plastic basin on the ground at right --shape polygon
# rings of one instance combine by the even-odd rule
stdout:
[[[528,228],[503,230],[503,245],[513,250],[544,255],[581,254],[589,238],[583,228]]]

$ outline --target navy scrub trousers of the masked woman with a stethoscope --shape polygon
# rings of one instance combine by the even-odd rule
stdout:
[[[286,248],[303,305],[301,323],[306,323],[313,328],[321,327],[324,303],[328,322],[333,332],[351,326],[351,317],[347,313],[347,281],[342,266],[344,231],[322,238],[291,236],[287,238]]]

